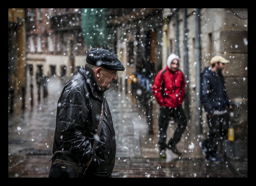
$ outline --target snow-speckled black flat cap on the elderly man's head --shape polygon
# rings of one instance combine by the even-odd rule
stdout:
[[[108,70],[125,69],[116,55],[106,49],[91,49],[87,54],[86,62],[95,66],[103,66]]]

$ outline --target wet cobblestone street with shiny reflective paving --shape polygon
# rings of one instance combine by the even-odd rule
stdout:
[[[48,177],[51,162],[57,101],[63,88],[58,78],[50,78],[48,97],[29,104],[26,109],[8,114],[8,177]],[[160,159],[158,142],[158,109],[153,109],[153,134],[148,133],[143,108],[131,94],[117,86],[105,92],[116,133],[117,153],[113,177],[248,177],[247,160],[226,160],[216,165],[205,162],[199,148],[200,137],[193,136],[188,124],[177,147],[180,157],[167,150]],[[36,90],[34,90],[36,91]],[[36,95],[36,93],[35,93]],[[169,133],[174,129],[171,127]],[[191,144],[195,147],[191,148]]]

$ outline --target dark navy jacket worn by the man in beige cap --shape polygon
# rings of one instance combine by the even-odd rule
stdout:
[[[214,110],[224,111],[233,103],[226,93],[226,85],[222,72],[216,73],[211,67],[205,67],[201,72],[201,103],[208,114]]]

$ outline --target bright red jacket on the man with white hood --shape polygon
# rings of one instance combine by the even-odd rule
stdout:
[[[166,66],[156,75],[152,91],[160,107],[178,108],[185,96],[185,76],[181,70],[173,72]]]

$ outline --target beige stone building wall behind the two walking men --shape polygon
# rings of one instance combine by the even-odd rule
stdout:
[[[192,123],[197,124],[198,133],[206,133],[208,130],[205,119],[201,120],[196,113],[203,110],[197,103],[200,77],[196,68],[199,64],[201,72],[204,67],[210,66],[210,59],[214,55],[221,55],[230,60],[223,74],[227,93],[238,107],[235,110],[237,117],[231,118],[235,137],[247,140],[247,17],[247,9],[164,9],[167,24],[163,26],[162,41],[163,54],[167,55],[162,57],[163,66],[166,66],[168,54],[179,55],[180,69],[187,77],[189,95],[184,105],[189,108],[187,115]],[[196,45],[197,34],[200,35],[200,46]],[[197,61],[198,54],[200,61]],[[204,118],[205,113],[201,114]]]

